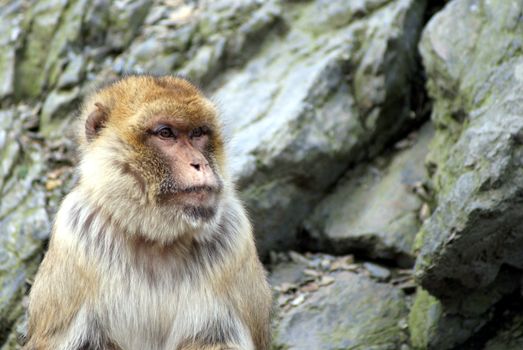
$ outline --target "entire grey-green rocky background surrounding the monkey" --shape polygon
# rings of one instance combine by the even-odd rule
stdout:
[[[83,94],[198,82],[273,349],[523,349],[523,2],[0,0],[0,349],[75,182]]]

